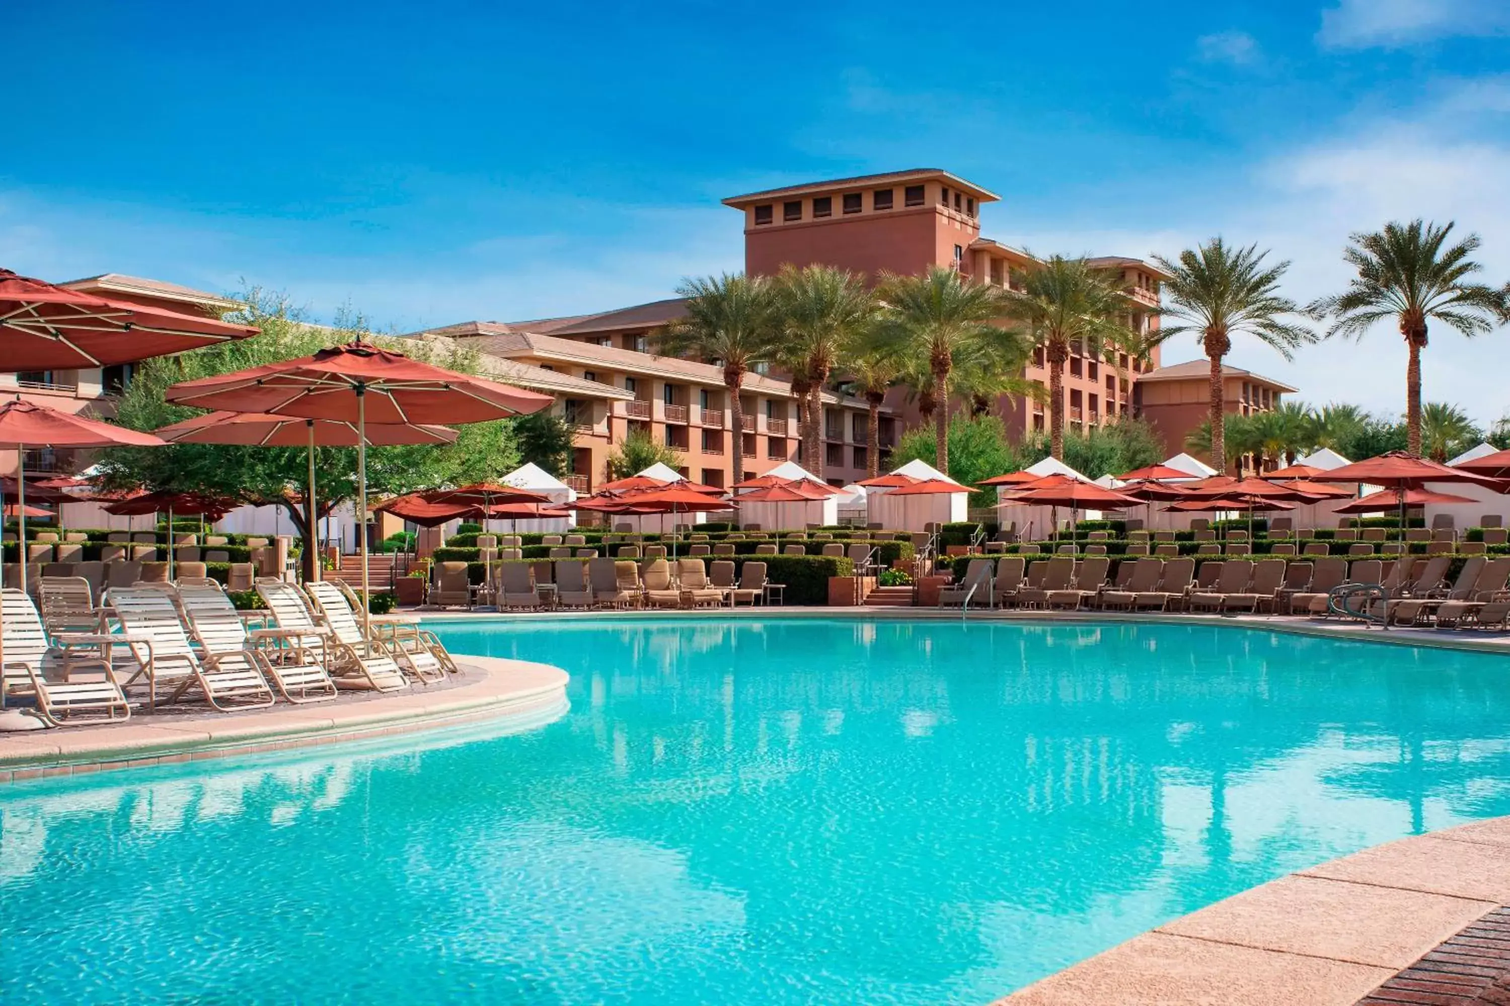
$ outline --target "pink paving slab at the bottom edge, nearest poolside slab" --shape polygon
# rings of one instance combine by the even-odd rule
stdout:
[[[1148,932],[998,1006],[1353,1006],[1395,971]]]

